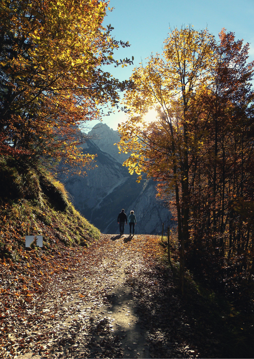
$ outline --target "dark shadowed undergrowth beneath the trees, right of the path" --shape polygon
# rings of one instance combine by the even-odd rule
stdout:
[[[170,256],[173,258],[173,272],[180,292],[179,242],[175,231],[170,234]],[[164,247],[165,242],[166,237],[163,244],[160,242],[159,245]],[[166,262],[167,248],[164,251],[161,259]],[[209,256],[209,253],[198,254],[200,257],[196,256],[194,263],[193,253],[186,251],[184,298],[188,303],[188,310],[203,315],[206,313],[206,325],[219,333],[218,337],[224,348],[222,358],[251,358],[251,337],[254,335],[253,280],[248,280],[249,277],[244,272],[235,270],[232,274],[232,267],[227,270],[227,257],[219,252],[215,258]],[[199,324],[204,327],[202,321],[203,319]]]

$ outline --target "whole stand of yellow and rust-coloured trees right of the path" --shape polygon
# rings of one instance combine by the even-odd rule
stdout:
[[[192,269],[211,273],[226,258],[232,271],[254,268],[253,63],[243,40],[225,29],[219,37],[173,30],[163,57],[135,69],[129,119],[119,127],[130,173],[159,181],[175,213],[182,291],[185,247]],[[147,123],[149,109],[158,116]]]

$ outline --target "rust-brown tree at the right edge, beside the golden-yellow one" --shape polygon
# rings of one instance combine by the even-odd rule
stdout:
[[[196,223],[202,230],[196,238],[199,248],[206,238],[203,242],[215,253],[219,250],[223,260],[233,253],[235,263],[241,257],[242,268],[251,258],[254,219],[253,62],[247,63],[249,45],[243,40],[235,41],[225,29],[219,37],[211,91],[198,100],[209,116],[204,164],[197,168],[202,191],[196,193],[202,206]]]

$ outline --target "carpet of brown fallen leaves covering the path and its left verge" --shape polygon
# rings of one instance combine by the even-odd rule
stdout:
[[[157,236],[102,234],[86,250],[1,264],[5,358],[218,358],[178,294]],[[202,332],[199,322],[204,320]]]

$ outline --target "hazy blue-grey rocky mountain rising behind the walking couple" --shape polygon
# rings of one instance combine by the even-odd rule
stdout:
[[[172,221],[170,211],[156,199],[155,182],[136,182],[136,176],[131,176],[122,165],[126,156],[118,154],[118,150],[112,150],[116,147],[113,144],[119,141],[117,131],[109,129],[107,125],[99,125],[88,134],[91,136],[93,132],[95,135],[98,131],[99,139],[88,140],[83,146],[84,152],[97,154],[98,167],[87,171],[88,176],[84,178],[61,177],[75,208],[102,233],[119,233],[117,216],[122,208],[127,217],[131,210],[134,211],[137,219],[136,234],[161,233],[162,223],[166,228]],[[125,233],[129,233],[129,225],[125,226]]]

